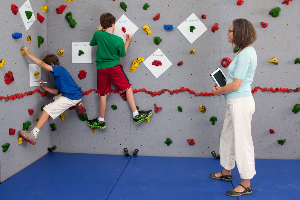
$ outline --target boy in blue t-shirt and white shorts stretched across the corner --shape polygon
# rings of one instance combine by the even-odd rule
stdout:
[[[30,144],[35,145],[39,131],[50,117],[55,119],[67,108],[72,106],[78,109],[79,114],[84,113],[85,108],[83,103],[80,102],[82,99],[81,88],[77,86],[69,72],[62,66],[59,66],[60,63],[57,56],[50,54],[45,56],[42,61],[33,56],[29,52],[28,47],[22,47],[22,51],[24,51],[26,56],[32,59],[35,64],[46,69],[53,76],[55,83],[54,88],[49,88],[44,85],[43,80],[40,81],[41,88],[55,95],[53,97],[54,102],[44,106],[41,117],[32,131],[19,131],[19,135],[21,135],[22,138]]]

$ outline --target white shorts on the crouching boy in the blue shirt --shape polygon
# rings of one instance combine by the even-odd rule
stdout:
[[[67,97],[64,97],[59,93],[58,95],[55,95],[53,97],[54,102],[45,105],[44,111],[46,111],[53,120],[58,117],[61,113],[63,113],[68,108],[72,107],[73,105],[76,105],[81,101],[81,99],[78,100],[71,100]]]

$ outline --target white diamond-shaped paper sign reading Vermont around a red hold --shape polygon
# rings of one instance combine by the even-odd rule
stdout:
[[[161,61],[161,65],[152,65],[152,62],[155,60]],[[157,49],[154,53],[152,53],[151,56],[149,56],[143,63],[151,71],[155,78],[158,78],[172,65],[170,60],[164,55],[163,52],[161,52],[160,49]]]

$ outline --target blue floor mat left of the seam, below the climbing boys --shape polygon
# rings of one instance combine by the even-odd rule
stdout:
[[[0,199],[107,199],[130,157],[48,153],[0,185]]]

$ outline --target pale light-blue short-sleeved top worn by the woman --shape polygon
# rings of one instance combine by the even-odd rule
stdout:
[[[251,96],[251,83],[257,64],[256,51],[252,46],[245,47],[238,53],[228,66],[227,82],[232,83],[233,78],[243,80],[238,90],[225,94],[225,99]]]

